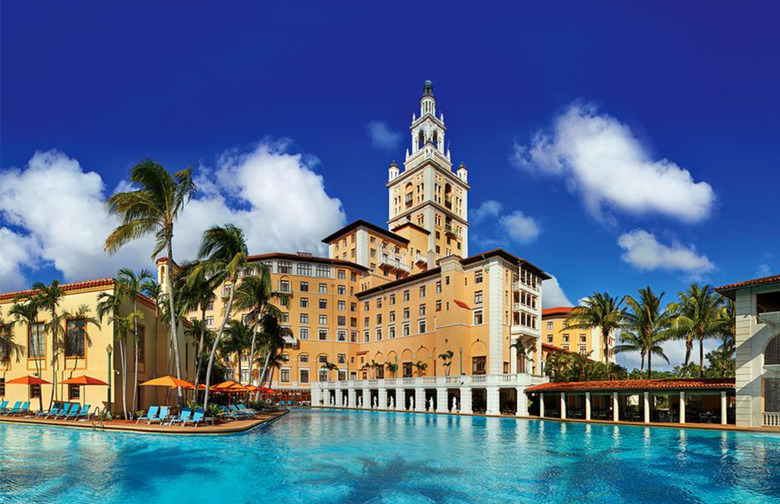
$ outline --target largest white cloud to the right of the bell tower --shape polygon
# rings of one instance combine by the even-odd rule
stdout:
[[[516,166],[566,177],[588,211],[609,220],[608,208],[635,215],[662,214],[684,222],[710,215],[712,187],[668,159],[654,160],[631,129],[593,105],[571,105],[552,131],[537,132],[529,146],[515,143]]]

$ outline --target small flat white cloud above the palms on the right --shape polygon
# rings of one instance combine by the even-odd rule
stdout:
[[[686,246],[678,242],[665,245],[644,229],[621,235],[618,245],[625,250],[622,259],[644,271],[682,271],[698,276],[715,268],[707,256],[696,252],[693,245]]]

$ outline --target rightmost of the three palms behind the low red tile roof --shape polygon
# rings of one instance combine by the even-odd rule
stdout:
[[[693,341],[699,340],[699,374],[704,376],[704,340],[718,334],[723,320],[718,318],[720,296],[709,285],[691,284],[685,292],[677,294],[677,302],[671,303],[671,327],[675,335],[685,340],[685,364],[689,371]]]

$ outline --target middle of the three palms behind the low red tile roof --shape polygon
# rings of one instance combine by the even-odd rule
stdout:
[[[669,359],[664,354],[661,343],[667,341],[670,337],[669,332],[669,314],[661,309],[661,300],[664,297],[662,292],[656,296],[649,286],[639,289],[639,299],[626,296],[627,310],[623,315],[623,332],[627,345],[621,346],[620,351],[627,351],[637,340],[640,352],[642,354],[642,368],[644,368],[645,357],[647,357],[647,377],[651,377],[653,371],[653,355],[664,359],[667,363]],[[623,334],[621,334],[621,339]],[[615,349],[617,352],[617,348]]]

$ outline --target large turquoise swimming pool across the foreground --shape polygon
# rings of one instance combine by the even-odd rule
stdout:
[[[0,424],[0,502],[778,502],[780,437],[294,411],[235,436]]]

